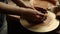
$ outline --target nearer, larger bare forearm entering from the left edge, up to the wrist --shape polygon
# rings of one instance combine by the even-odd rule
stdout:
[[[30,9],[15,7],[15,6],[11,6],[11,5],[0,2],[0,13],[21,15],[23,14],[23,12],[26,12],[26,11],[30,11]]]

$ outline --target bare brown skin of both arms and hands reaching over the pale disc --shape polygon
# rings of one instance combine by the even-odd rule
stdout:
[[[31,7],[24,4],[22,0],[12,0],[17,6],[10,6],[8,4],[0,2],[0,13],[3,14],[12,14],[19,15],[25,18],[28,17],[30,19],[38,20],[41,16],[45,16],[45,14],[40,13],[39,11],[31,9]]]

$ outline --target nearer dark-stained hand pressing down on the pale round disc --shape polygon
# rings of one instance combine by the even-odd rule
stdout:
[[[38,24],[46,15],[36,10],[29,10],[24,12],[21,17],[26,19],[30,24]]]

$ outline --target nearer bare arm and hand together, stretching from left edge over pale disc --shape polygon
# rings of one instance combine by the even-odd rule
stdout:
[[[44,14],[42,14],[36,10],[33,10],[33,9],[10,6],[10,5],[2,3],[2,2],[0,2],[0,13],[19,15],[22,17],[26,16],[26,17],[29,17],[31,19],[33,19],[33,18],[37,19],[37,18],[40,18],[38,16],[44,15]]]

